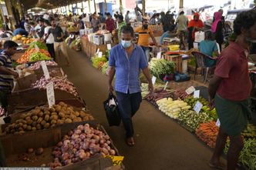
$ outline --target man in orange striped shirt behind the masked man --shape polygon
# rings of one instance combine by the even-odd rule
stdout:
[[[152,38],[154,45],[157,46],[157,41],[153,36],[153,31],[148,26],[147,19],[143,19],[142,27],[136,28],[135,30],[135,32],[139,33],[138,45],[143,48],[143,52],[147,57],[147,62],[150,61],[150,37]]]

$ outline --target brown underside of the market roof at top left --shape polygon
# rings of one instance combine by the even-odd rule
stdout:
[[[34,7],[51,9],[82,1],[86,2],[86,0],[21,0],[25,10]]]

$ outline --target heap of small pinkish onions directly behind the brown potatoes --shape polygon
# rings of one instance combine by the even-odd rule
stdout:
[[[72,82],[69,82],[69,80],[66,77],[50,77],[49,79],[46,79],[44,76],[40,78],[40,80],[36,81],[32,84],[32,88],[39,88],[39,89],[45,89],[46,85],[49,82],[53,82],[54,89],[59,89],[65,92],[68,92],[72,95],[78,96],[78,92],[76,91],[76,88],[72,84]]]

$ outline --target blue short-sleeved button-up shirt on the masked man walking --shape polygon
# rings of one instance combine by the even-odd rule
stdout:
[[[134,45],[130,56],[121,44],[114,46],[109,54],[109,66],[116,68],[116,92],[140,92],[140,69],[147,65],[146,55],[139,46]]]

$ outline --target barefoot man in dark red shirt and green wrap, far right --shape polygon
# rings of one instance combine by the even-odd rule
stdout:
[[[241,132],[251,117],[248,107],[251,92],[248,48],[256,39],[256,10],[237,15],[234,20],[234,33],[237,39],[221,53],[208,89],[211,107],[215,104],[221,122],[214,155],[209,165],[212,168],[225,168],[220,162],[220,156],[229,136],[231,143],[227,152],[227,170],[236,168],[239,154],[244,147]]]

